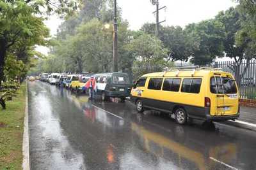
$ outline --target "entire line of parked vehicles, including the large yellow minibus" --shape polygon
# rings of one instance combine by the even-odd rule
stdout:
[[[91,76],[102,101],[109,97],[131,97],[138,112],[157,110],[169,113],[178,124],[193,119],[207,122],[236,120],[239,91],[231,73],[211,67],[179,67],[141,76],[134,85],[126,73],[40,74],[40,80],[86,93]]]

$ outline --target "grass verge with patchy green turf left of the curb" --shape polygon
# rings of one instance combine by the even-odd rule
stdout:
[[[22,169],[22,139],[26,106],[26,83],[17,90],[17,97],[0,108],[0,169]]]

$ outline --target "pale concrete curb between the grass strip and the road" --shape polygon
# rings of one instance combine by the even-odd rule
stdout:
[[[28,81],[26,81],[26,106],[25,106],[25,117],[24,117],[24,129],[23,129],[23,143],[22,143],[22,169],[29,170],[29,129],[28,129]]]

